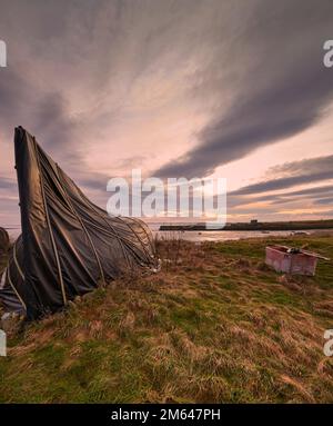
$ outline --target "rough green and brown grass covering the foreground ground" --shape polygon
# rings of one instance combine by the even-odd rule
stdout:
[[[333,259],[333,237],[272,238]],[[1,403],[332,403],[333,262],[285,277],[268,240],[159,242],[123,277],[9,338]]]

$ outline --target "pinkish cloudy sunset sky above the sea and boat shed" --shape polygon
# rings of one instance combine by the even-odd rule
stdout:
[[[333,219],[331,0],[0,0],[0,225],[23,126],[98,205],[107,182],[226,178],[228,220]]]

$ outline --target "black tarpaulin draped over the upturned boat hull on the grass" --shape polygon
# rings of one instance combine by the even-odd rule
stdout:
[[[93,205],[21,127],[14,150],[22,234],[1,280],[8,311],[36,319],[127,270],[158,268],[144,222]]]

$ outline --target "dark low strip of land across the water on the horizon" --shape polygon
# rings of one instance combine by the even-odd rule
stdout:
[[[300,220],[300,221],[272,221],[272,222],[236,222],[226,224],[223,228],[206,228],[205,224],[193,225],[161,225],[159,230],[180,230],[180,231],[249,231],[249,230],[307,230],[307,229],[333,229],[333,220]]]

